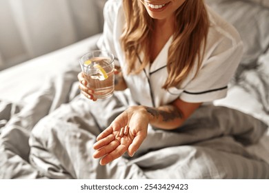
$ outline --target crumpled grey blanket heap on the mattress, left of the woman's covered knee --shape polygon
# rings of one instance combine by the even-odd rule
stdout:
[[[28,93],[20,102],[0,100],[0,179],[43,178],[30,165],[28,144],[34,125],[77,96],[79,68],[66,65],[66,71],[44,79],[43,87]]]

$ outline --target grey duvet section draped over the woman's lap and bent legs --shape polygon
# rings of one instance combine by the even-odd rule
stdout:
[[[249,154],[267,125],[229,108],[203,105],[181,128],[148,128],[135,156],[101,166],[92,145],[134,102],[128,92],[89,101],[77,96],[35,125],[30,163],[51,179],[268,179],[269,165]]]

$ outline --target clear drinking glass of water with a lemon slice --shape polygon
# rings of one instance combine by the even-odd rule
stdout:
[[[81,70],[94,90],[94,97],[106,99],[114,92],[114,55],[104,50],[94,50],[84,54],[79,60]]]

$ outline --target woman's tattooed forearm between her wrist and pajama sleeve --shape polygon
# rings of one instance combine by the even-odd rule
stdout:
[[[172,130],[179,128],[185,121],[183,113],[174,105],[163,105],[159,108],[144,107],[148,113],[150,124],[156,128]]]

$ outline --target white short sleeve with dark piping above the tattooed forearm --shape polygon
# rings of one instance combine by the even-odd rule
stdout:
[[[228,83],[235,74],[243,54],[241,40],[228,45],[223,41],[204,61],[197,76],[189,81],[179,96],[189,103],[201,103],[224,98]]]

